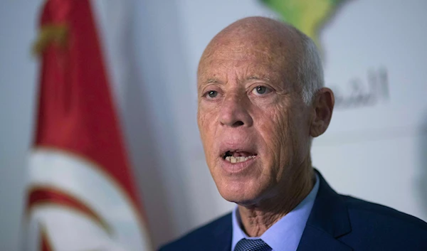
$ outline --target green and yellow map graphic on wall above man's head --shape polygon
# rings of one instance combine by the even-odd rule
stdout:
[[[348,0],[261,0],[276,11],[284,21],[292,24],[315,41],[319,42],[319,31],[333,16],[344,1]]]

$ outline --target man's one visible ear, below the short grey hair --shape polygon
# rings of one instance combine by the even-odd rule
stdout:
[[[311,137],[318,137],[326,132],[332,118],[334,103],[334,92],[332,92],[330,88],[323,87],[316,92],[312,102],[312,122],[310,124]]]

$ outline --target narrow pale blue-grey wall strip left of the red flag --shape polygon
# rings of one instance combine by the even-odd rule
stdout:
[[[36,60],[30,43],[41,1],[0,3],[0,249],[17,250],[26,156],[33,127]]]

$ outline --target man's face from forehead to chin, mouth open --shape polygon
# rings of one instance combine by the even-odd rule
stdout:
[[[262,41],[226,40],[201,59],[199,130],[227,201],[253,205],[277,196],[309,158],[310,115],[295,84],[295,55],[283,51]]]

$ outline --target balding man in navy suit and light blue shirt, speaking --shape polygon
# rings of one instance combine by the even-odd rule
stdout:
[[[427,250],[427,224],[335,193],[312,168],[332,117],[315,44],[269,18],[236,21],[204,50],[198,124],[233,213],[161,250]]]

